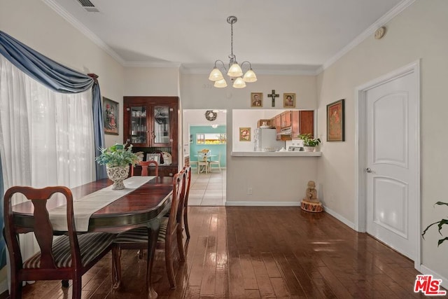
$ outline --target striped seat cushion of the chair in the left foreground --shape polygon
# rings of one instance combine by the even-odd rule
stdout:
[[[99,253],[104,251],[113,242],[116,235],[108,232],[90,232],[87,234],[78,235],[78,242],[80,246],[81,263],[85,267]],[[58,237],[52,245],[52,253],[55,257],[57,267],[71,267],[71,254],[69,236]],[[31,256],[23,263],[26,269],[38,269],[41,267],[41,253],[38,252]]]

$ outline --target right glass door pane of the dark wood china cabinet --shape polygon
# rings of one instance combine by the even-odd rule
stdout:
[[[171,109],[172,111],[172,109]],[[169,146],[170,132],[169,106],[154,106],[153,108],[153,146]]]

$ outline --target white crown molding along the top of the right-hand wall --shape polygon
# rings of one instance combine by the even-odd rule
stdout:
[[[389,22],[390,20],[395,18],[399,13],[404,11],[408,6],[410,6],[414,2],[415,2],[415,0],[403,0],[403,1],[401,1],[394,8],[392,8],[385,15],[383,15],[376,22],[374,22],[369,28],[365,29],[365,31],[363,33],[361,33],[360,35],[356,36],[356,38],[353,39],[353,41],[351,41],[351,43],[349,43],[344,48],[342,48],[342,50],[340,50],[338,53],[336,53],[336,55],[334,55],[329,60],[327,60],[323,64],[323,68],[321,69],[321,71],[327,69],[332,64],[337,62],[337,60],[339,60],[342,56],[346,55],[346,53],[349,53],[350,50],[352,50],[353,48],[358,46],[360,43],[362,43],[365,39],[367,39],[367,37],[372,36],[372,34],[374,34],[374,32],[379,27],[384,26],[384,24],[386,24],[387,22]],[[319,73],[321,71],[319,71]]]

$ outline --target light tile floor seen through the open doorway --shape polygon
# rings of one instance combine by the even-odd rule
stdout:
[[[225,169],[213,169],[212,172],[197,174],[196,167],[191,167],[189,206],[223,206],[225,205]]]

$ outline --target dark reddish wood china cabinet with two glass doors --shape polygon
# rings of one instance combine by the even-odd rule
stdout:
[[[172,163],[160,164],[159,174],[176,174],[179,97],[123,97],[123,103],[124,142],[132,144],[134,151],[143,151],[145,158],[146,153],[169,153]],[[140,169],[135,170],[138,174]]]

